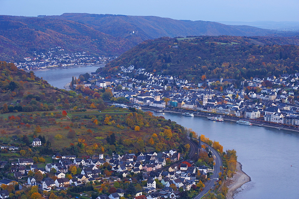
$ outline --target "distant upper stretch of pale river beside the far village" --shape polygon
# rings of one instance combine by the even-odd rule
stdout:
[[[66,69],[51,69],[51,70],[39,70],[34,71],[34,74],[37,77],[42,77],[44,80],[47,80],[49,84],[57,88],[64,88],[65,84],[72,81],[72,76],[79,77],[80,74],[95,72],[99,67],[98,66],[80,66]]]

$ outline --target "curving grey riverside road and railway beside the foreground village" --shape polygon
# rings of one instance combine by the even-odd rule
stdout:
[[[188,138],[189,138],[189,136],[188,136]],[[192,139],[196,139],[196,138],[192,138]],[[196,139],[196,140],[198,140],[198,139]],[[189,140],[189,143],[190,142],[192,142],[192,141]],[[194,145],[195,145],[195,147],[197,149],[196,144],[194,142],[192,142],[192,143],[190,144],[190,157],[191,156],[193,157],[195,155],[195,154],[191,154],[191,152],[193,151],[192,148],[194,147]],[[222,166],[222,159],[221,159],[219,153],[213,147],[209,146],[205,142],[201,142],[201,144],[207,146],[211,150],[212,156],[213,156],[214,161],[215,161],[215,166],[214,166],[214,173],[210,177],[210,180],[205,183],[205,187],[203,188],[202,192],[200,192],[198,195],[196,195],[194,197],[195,199],[202,198],[206,193],[208,193],[208,191],[210,189],[214,188],[214,184],[216,183],[217,178],[219,177],[219,172],[222,172],[222,168],[223,168],[223,166]]]

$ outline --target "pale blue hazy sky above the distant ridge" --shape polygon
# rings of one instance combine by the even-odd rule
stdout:
[[[299,0],[0,0],[1,15],[96,13],[204,21],[299,21]]]

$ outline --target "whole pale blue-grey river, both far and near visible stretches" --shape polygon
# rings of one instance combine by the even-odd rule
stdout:
[[[63,88],[72,76],[94,72],[99,66],[35,71],[48,83]],[[237,124],[216,122],[206,117],[188,117],[173,113],[155,113],[192,128],[219,141],[223,150],[235,149],[242,170],[251,177],[234,198],[299,198],[299,133]],[[292,167],[291,167],[292,165]]]

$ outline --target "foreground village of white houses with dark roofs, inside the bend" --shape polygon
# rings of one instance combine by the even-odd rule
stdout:
[[[42,144],[39,138],[35,138],[31,145],[39,147]],[[199,151],[211,156],[209,150],[206,151],[201,146]],[[213,174],[212,167],[199,164],[204,163],[201,161],[182,159],[181,154],[175,149],[162,153],[113,153],[112,156],[99,154],[80,158],[57,153],[51,157],[52,163],[41,168],[36,163],[45,160],[36,159],[19,158],[16,161],[0,162],[1,170],[13,174],[9,179],[0,180],[0,198],[10,196],[5,187],[12,185],[16,187],[15,190],[22,186],[38,186],[39,192],[44,194],[67,189],[80,192],[76,187],[104,185],[114,189],[109,189],[110,195],[98,194],[97,198],[120,199],[128,194],[128,191],[117,186],[121,181],[142,185],[131,195],[135,199],[180,198],[182,192],[203,188],[202,182],[206,182]],[[80,196],[87,194],[81,193]]]

